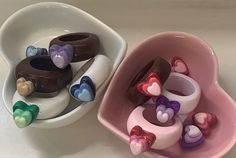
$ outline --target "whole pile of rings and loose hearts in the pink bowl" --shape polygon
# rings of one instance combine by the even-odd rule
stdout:
[[[170,63],[156,57],[132,79],[127,97],[135,105],[127,120],[130,149],[134,155],[163,150],[176,143],[195,148],[204,143],[217,123],[208,112],[195,113],[201,89],[190,77],[184,60]]]

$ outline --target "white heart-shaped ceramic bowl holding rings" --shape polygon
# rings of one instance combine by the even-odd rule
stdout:
[[[52,119],[36,120],[31,125],[33,127],[57,128],[69,125],[98,104],[111,76],[125,56],[126,42],[115,31],[88,13],[74,6],[56,2],[27,6],[10,16],[1,27],[0,54],[9,67],[2,97],[11,114],[12,97],[16,90],[14,70],[16,64],[25,58],[26,47],[34,45],[48,48],[52,38],[70,32],[91,32],[98,35],[102,45],[100,53],[111,59],[112,73],[98,89],[95,101],[85,104],[71,99],[68,108],[62,114]]]

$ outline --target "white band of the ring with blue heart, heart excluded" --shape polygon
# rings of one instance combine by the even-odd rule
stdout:
[[[92,80],[95,89],[97,90],[110,75],[111,71],[111,60],[105,55],[96,55],[93,59],[90,59],[79,69],[72,81],[72,84],[70,85],[69,93],[71,94],[72,86],[80,84],[81,78],[83,76],[88,76]],[[71,96],[74,99],[79,100],[78,98],[75,98],[72,94]]]

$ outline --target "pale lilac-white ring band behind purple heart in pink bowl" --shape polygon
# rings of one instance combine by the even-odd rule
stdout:
[[[163,87],[162,95],[180,103],[178,114],[188,114],[197,107],[201,89],[192,78],[172,72]]]

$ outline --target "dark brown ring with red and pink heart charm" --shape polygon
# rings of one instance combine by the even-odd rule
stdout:
[[[131,81],[127,92],[130,101],[141,105],[150,97],[159,96],[170,71],[170,64],[163,58],[157,57],[149,62]]]

